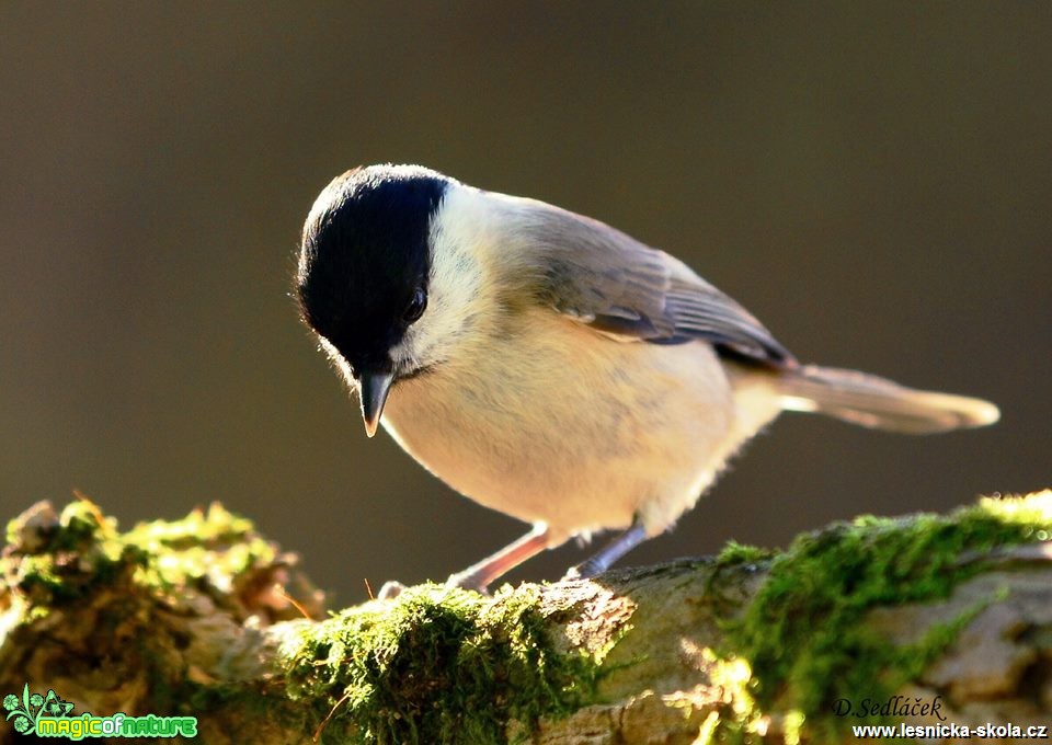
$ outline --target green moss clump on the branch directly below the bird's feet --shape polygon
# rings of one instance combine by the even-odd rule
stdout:
[[[505,742],[511,720],[528,731],[575,710],[598,674],[594,657],[556,650],[537,598],[431,585],[344,610],[283,650],[289,695],[332,713],[329,742]]]

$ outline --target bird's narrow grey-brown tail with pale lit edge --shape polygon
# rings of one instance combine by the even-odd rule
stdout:
[[[876,375],[816,365],[784,373],[778,389],[789,411],[917,435],[981,427],[1000,416],[997,406],[982,399],[916,390]]]

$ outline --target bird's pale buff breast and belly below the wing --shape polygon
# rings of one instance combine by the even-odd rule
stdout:
[[[534,312],[472,365],[398,383],[385,426],[453,489],[548,524],[552,545],[637,514],[660,532],[741,443],[723,365],[705,343],[618,342]]]

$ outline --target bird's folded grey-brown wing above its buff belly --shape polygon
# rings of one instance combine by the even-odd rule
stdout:
[[[542,302],[627,341],[705,340],[741,360],[797,365],[747,310],[683,262],[597,220],[533,205],[526,225],[541,262]]]

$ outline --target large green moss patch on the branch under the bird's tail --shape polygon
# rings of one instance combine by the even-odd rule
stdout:
[[[725,626],[725,662],[743,661],[761,710],[793,712],[812,736],[831,738],[844,720],[828,715],[841,697],[880,698],[919,675],[986,604],[895,646],[865,622],[880,606],[947,597],[997,547],[1048,540],[1052,493],[981,500],[948,516],[859,517],[798,537],[764,559],[734,547],[721,561],[759,558],[768,575],[744,614]],[[990,598],[994,601],[996,598]],[[748,741],[753,713],[732,715],[719,734]]]

